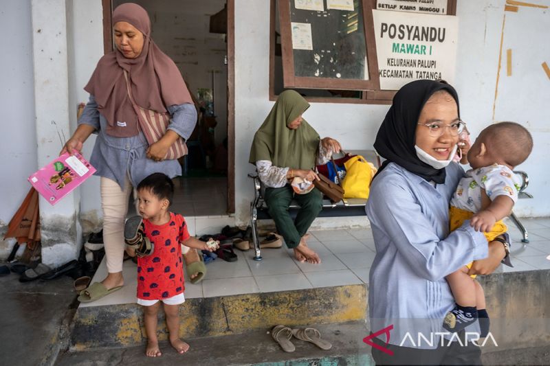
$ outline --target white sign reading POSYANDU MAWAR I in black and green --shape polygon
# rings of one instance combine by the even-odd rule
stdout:
[[[373,10],[380,89],[418,79],[454,82],[458,18]]]

